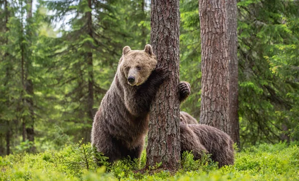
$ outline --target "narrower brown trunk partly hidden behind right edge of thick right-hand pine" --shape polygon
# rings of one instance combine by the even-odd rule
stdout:
[[[238,101],[238,36],[237,36],[237,0],[226,0],[226,25],[229,57],[229,120],[231,138],[240,148],[239,101]]]

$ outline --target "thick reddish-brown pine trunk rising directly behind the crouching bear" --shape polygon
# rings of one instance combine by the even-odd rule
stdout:
[[[201,36],[200,123],[230,135],[225,0],[199,0]]]

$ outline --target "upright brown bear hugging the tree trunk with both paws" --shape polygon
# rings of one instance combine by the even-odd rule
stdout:
[[[113,163],[123,157],[140,158],[148,132],[149,106],[167,69],[156,67],[151,46],[123,49],[114,80],[95,115],[91,143]],[[179,83],[179,100],[190,94],[190,85]]]

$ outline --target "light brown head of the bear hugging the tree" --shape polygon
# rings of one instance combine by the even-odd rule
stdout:
[[[128,84],[139,86],[149,78],[157,59],[149,44],[144,50],[131,50],[129,46],[125,46],[120,63],[120,70],[124,72]]]

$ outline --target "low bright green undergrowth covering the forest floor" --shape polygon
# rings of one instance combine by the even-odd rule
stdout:
[[[102,167],[97,167],[95,158]],[[0,181],[298,181],[299,147],[280,143],[260,145],[236,153],[235,165],[218,169],[205,155],[194,161],[184,153],[176,173],[159,169],[160,163],[145,171],[146,153],[141,160],[125,159],[114,165],[93,152],[90,145],[66,146],[61,151],[16,154],[0,157]],[[154,172],[155,171],[155,172]],[[150,174],[149,174],[150,173]]]

